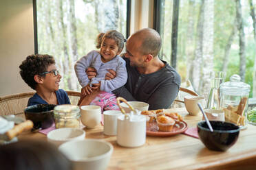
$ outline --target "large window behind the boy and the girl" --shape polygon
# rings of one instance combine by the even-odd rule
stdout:
[[[34,1],[35,2],[35,1]],[[54,56],[63,75],[60,88],[79,90],[74,62],[96,49],[100,32],[127,37],[127,0],[36,1],[38,53]]]

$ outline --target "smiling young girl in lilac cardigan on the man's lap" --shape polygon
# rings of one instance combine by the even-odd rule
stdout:
[[[76,76],[85,95],[92,92],[93,86],[99,86],[100,94],[92,101],[92,105],[100,106],[102,111],[119,110],[116,105],[116,96],[111,92],[127,82],[125,60],[119,56],[125,44],[125,37],[113,30],[99,34],[96,42],[96,47],[100,48],[100,51],[93,50],[76,62],[74,66]],[[92,80],[88,79],[85,72],[88,67],[94,67],[97,71],[96,77]],[[116,77],[113,80],[105,80],[108,69],[116,71]]]

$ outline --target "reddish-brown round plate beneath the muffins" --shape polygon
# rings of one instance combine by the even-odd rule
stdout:
[[[173,126],[173,130],[171,132],[162,132],[160,130],[158,131],[149,131],[147,130],[147,136],[160,136],[160,137],[165,137],[165,136],[173,136],[175,134],[180,134],[183,133],[187,130],[188,125],[184,121],[180,121],[179,123],[175,123]]]

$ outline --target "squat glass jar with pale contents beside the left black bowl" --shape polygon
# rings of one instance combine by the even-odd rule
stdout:
[[[63,104],[54,108],[55,127],[80,127],[80,108],[78,106]]]

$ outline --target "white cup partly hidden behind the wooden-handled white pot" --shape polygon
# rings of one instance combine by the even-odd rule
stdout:
[[[122,112],[119,110],[107,110],[104,114],[104,134],[116,135],[117,119]]]

